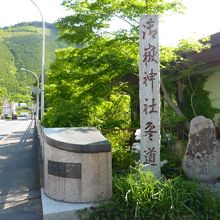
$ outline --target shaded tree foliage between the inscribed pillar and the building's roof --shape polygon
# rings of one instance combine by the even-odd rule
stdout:
[[[209,38],[188,39],[180,41],[175,48],[161,49],[163,81],[188,120],[198,115],[213,118],[218,112],[211,105],[209,92],[204,90],[207,80],[205,63],[195,60],[198,53],[210,48],[208,42]]]

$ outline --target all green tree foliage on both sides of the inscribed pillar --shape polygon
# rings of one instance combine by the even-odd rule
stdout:
[[[164,0],[65,0],[63,5],[73,13],[58,21],[59,38],[72,47],[57,52],[49,71],[45,125],[139,127],[139,17],[180,11],[182,5]],[[115,19],[126,25],[112,31]],[[191,77],[203,67],[194,57],[209,47],[207,40],[160,48],[162,97],[177,123],[216,112],[203,90],[205,77],[199,77],[199,89]]]

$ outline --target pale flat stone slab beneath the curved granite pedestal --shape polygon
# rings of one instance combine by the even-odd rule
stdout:
[[[49,198],[41,188],[43,220],[84,220],[94,203],[67,203]]]

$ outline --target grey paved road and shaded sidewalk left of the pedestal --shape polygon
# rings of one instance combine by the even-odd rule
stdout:
[[[41,220],[31,120],[0,120],[0,220]]]

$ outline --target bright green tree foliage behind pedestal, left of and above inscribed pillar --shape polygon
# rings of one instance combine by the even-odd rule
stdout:
[[[72,48],[57,52],[51,66],[45,124],[138,126],[139,17],[178,11],[182,5],[165,0],[67,0],[63,5],[73,13],[58,21],[59,38]],[[127,25],[113,32],[114,19]]]

